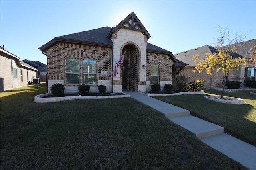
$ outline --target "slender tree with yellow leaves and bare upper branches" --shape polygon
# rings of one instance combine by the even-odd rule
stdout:
[[[245,35],[236,34],[236,36],[231,39],[230,35],[232,31],[227,29],[227,27],[225,29],[219,27],[218,31],[220,32],[220,37],[218,37],[216,43],[213,44],[216,53],[207,53],[206,57],[196,64],[195,68],[199,73],[206,70],[206,73],[210,75],[212,75],[214,68],[216,68],[216,72],[222,71],[224,73],[221,94],[221,99],[223,99],[229,71],[231,69],[245,67],[248,59],[246,59],[246,57],[232,57],[232,54],[237,52],[238,43],[242,41]],[[199,55],[197,54],[193,60],[196,62],[198,59]]]

